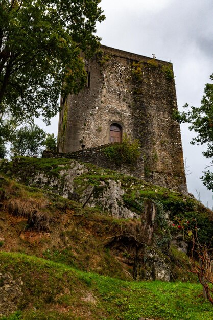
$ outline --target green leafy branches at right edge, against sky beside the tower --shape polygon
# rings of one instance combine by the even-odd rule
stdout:
[[[213,74],[210,75],[213,80]],[[191,143],[206,144],[207,149],[203,155],[207,159],[213,159],[213,84],[207,83],[204,89],[204,96],[201,100],[200,107],[189,108],[188,104],[184,105],[186,111],[175,113],[175,118],[180,123],[190,123],[189,129],[194,130],[197,136],[192,139]],[[212,163],[213,165],[213,163]],[[210,170],[204,172],[201,177],[204,186],[213,190],[213,173]]]

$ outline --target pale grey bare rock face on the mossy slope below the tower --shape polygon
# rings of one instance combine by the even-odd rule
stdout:
[[[85,173],[88,173],[86,166],[73,161],[70,163],[69,169],[61,166],[58,177],[37,172],[36,175],[29,180],[29,185],[36,185],[42,189],[50,188],[64,198],[73,199],[75,195],[74,179]],[[86,201],[91,192],[91,188],[92,186],[89,185],[82,194],[77,195],[80,202],[84,203]],[[99,186],[93,189],[87,205],[90,207],[99,205],[104,211],[109,212],[115,218],[138,218],[138,214],[124,206],[122,198],[124,194],[125,191],[122,189],[120,181],[110,179],[107,182],[100,181]]]

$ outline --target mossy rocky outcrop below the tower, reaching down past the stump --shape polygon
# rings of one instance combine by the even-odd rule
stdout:
[[[97,207],[100,213],[121,219],[116,229],[113,224],[109,228],[110,241],[106,243],[114,256],[131,270],[134,279],[170,280],[170,208],[165,212],[158,200],[161,193],[167,199],[169,190],[75,160],[26,161],[27,166],[25,159],[17,158],[10,167],[5,165],[5,172],[9,167],[9,174],[16,181],[78,201],[82,207]],[[174,191],[171,193],[176,196]],[[175,237],[173,244],[186,252],[183,239],[176,234]]]

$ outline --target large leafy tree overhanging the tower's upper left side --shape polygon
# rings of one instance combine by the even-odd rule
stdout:
[[[0,6],[0,125],[3,115],[48,123],[60,93],[86,81],[85,58],[96,52],[101,0],[2,0]]]

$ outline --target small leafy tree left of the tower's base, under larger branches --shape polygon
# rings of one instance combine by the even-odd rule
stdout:
[[[11,136],[12,156],[39,156],[42,152],[46,133],[37,125],[23,126]]]

